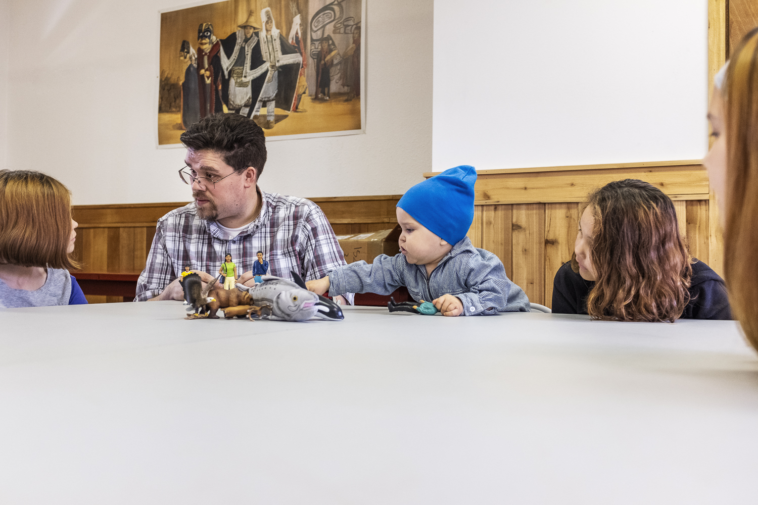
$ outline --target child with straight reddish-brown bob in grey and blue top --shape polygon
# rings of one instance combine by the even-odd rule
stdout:
[[[0,170],[0,307],[86,304],[68,269],[77,222],[70,193],[51,176]]]

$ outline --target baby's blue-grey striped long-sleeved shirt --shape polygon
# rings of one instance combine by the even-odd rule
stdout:
[[[453,295],[466,316],[496,312],[529,312],[526,294],[506,276],[503,262],[490,251],[475,248],[468,237],[453,246],[427,278],[424,265],[402,254],[381,254],[369,265],[356,261],[329,272],[329,295],[344,292],[390,295],[406,286],[414,300],[432,301]]]

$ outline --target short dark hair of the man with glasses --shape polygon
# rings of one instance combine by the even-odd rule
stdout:
[[[179,139],[193,151],[215,151],[236,172],[255,168],[256,179],[266,164],[266,138],[255,121],[240,114],[213,114],[189,126]]]

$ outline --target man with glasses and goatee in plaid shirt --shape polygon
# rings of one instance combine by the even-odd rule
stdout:
[[[135,301],[183,300],[177,279],[191,263],[211,282],[224,257],[237,258],[237,282],[252,285],[253,251],[269,251],[269,273],[321,279],[345,263],[342,249],[318,205],[304,198],[263,192],[263,130],[238,114],[205,117],[182,133],[186,167],[179,171],[194,201],[158,220]],[[352,294],[341,301],[352,303]]]

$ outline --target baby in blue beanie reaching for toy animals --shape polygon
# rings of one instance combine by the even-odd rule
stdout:
[[[406,286],[414,300],[431,300],[443,316],[528,312],[529,300],[498,257],[466,237],[474,220],[474,167],[462,165],[419,182],[397,202],[400,254],[356,261],[305,284],[323,295],[390,295]]]

